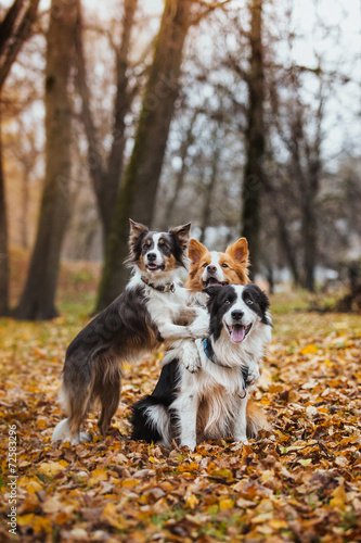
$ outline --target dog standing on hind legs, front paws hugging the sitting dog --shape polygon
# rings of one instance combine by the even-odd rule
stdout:
[[[128,264],[133,275],[125,291],[72,341],[66,351],[60,400],[67,418],[54,429],[52,441],[88,441],[80,426],[100,404],[99,429],[104,435],[120,397],[121,363],[160,342],[202,338],[209,324],[195,316],[205,310],[186,306],[186,290],[178,279],[186,262],[191,224],[168,232],[153,232],[130,220]],[[189,326],[183,326],[183,325]],[[193,342],[195,354],[198,356]]]

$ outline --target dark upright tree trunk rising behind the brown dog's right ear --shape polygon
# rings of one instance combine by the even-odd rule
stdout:
[[[258,270],[261,186],[265,153],[265,75],[262,51],[262,0],[250,3],[250,59],[247,77],[249,104],[246,130],[246,165],[244,171],[242,236],[248,241],[252,278]]]

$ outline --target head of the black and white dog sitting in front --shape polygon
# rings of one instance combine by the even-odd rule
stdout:
[[[256,285],[209,287],[205,292],[210,295],[210,333],[215,340],[227,330],[234,343],[241,343],[259,323],[270,325],[268,298]]]

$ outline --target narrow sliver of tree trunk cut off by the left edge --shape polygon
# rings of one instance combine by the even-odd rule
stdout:
[[[1,117],[0,117],[1,123]],[[2,137],[0,125],[0,316],[9,315],[9,248],[5,184],[2,168]]]

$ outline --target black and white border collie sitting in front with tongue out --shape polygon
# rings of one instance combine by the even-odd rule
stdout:
[[[250,283],[205,292],[210,334],[195,341],[201,369],[191,374],[177,359],[164,366],[153,393],[132,407],[132,439],[166,447],[176,439],[194,450],[204,440],[232,437],[247,443],[247,434],[256,437],[246,428],[246,405],[271,341],[269,300]]]

